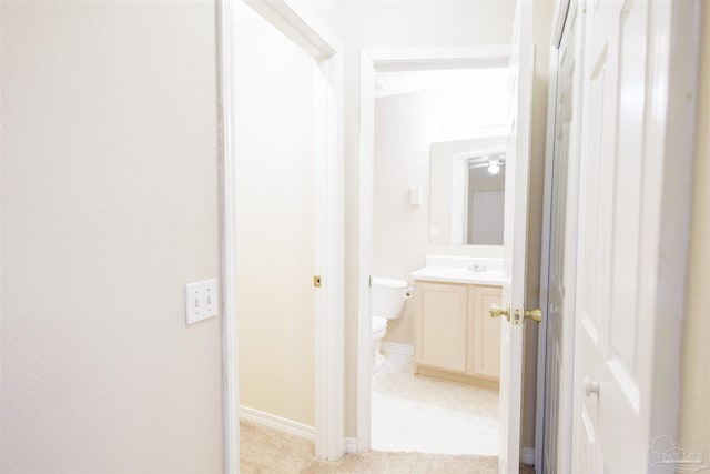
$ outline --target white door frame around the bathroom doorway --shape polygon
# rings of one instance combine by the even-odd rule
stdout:
[[[373,169],[375,139],[375,72],[422,69],[507,67],[509,44],[372,49],[361,56],[359,81],[359,226],[357,263],[357,452],[371,447],[372,315],[369,278],[373,254]]]

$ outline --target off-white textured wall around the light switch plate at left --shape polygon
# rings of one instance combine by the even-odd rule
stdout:
[[[0,471],[221,472],[215,6],[0,8]]]

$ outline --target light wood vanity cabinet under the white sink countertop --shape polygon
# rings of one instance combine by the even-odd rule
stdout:
[[[501,305],[495,284],[416,282],[417,374],[498,387]]]

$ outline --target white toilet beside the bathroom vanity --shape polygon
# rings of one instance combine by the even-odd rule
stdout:
[[[369,313],[373,315],[372,372],[375,373],[385,363],[385,356],[379,353],[379,344],[387,333],[387,321],[402,316],[404,302],[412,297],[412,289],[403,280],[373,276],[369,295]]]

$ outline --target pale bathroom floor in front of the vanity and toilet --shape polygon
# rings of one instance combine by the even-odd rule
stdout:
[[[498,391],[416,377],[413,356],[383,354],[373,375],[373,450],[498,454]]]

